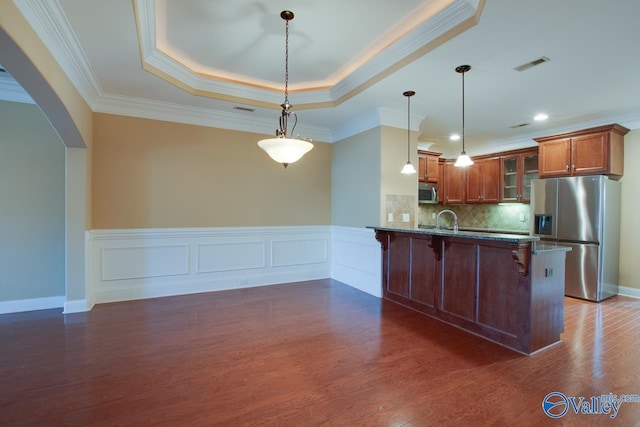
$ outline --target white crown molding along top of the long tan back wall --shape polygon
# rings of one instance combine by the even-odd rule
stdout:
[[[231,113],[120,95],[101,96],[95,104],[94,111],[262,135],[271,134],[271,130],[275,133],[278,123],[277,115],[274,115],[271,120],[263,117],[250,117],[251,113]],[[333,142],[331,132],[327,128],[298,124],[296,131],[302,137],[315,141]]]

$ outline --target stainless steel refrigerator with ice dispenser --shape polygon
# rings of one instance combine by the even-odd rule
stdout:
[[[599,302],[618,294],[619,182],[603,175],[533,180],[531,234],[571,248],[565,295]]]

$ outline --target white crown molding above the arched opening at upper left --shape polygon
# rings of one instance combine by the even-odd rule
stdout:
[[[14,0],[89,106],[103,91],[57,0]]]

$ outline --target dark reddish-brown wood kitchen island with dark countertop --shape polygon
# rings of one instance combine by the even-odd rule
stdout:
[[[383,298],[527,355],[560,341],[569,248],[517,234],[368,228],[382,245]]]

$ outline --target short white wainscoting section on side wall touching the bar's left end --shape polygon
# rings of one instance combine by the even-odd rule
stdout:
[[[382,297],[382,249],[368,228],[331,228],[331,278]]]

